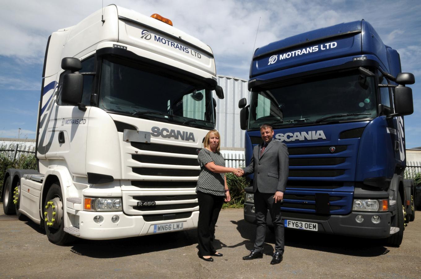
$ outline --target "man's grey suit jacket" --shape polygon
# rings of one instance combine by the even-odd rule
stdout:
[[[262,143],[253,148],[250,165],[244,168],[244,175],[254,173],[253,192],[274,194],[285,192],[288,179],[288,148],[283,142],[272,140],[260,156]]]

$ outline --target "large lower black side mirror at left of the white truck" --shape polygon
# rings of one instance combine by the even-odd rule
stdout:
[[[82,100],[83,75],[65,74],[61,88],[61,100],[69,105],[78,105]]]

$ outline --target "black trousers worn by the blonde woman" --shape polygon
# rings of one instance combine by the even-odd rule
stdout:
[[[197,191],[197,201],[199,202],[199,222],[197,224],[199,253],[202,256],[211,256],[216,253],[213,247],[215,225],[224,203],[224,196]]]

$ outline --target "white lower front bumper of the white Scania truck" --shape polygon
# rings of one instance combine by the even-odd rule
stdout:
[[[97,224],[93,221],[93,217],[100,215],[104,220]],[[120,217],[117,223],[111,221],[111,217],[117,215]],[[101,211],[78,211],[76,213],[79,223],[78,237],[89,240],[109,240],[125,237],[137,237],[147,234],[157,234],[154,232],[155,225],[171,224],[183,222],[182,229],[187,230],[197,228],[197,221],[199,218],[199,211],[193,211],[188,218],[180,218],[165,221],[144,221],[142,216],[125,215],[122,211],[101,212]]]

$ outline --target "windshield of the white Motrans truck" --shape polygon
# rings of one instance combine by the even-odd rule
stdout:
[[[106,111],[213,129],[212,100],[199,80],[119,58],[102,61],[99,108]]]

